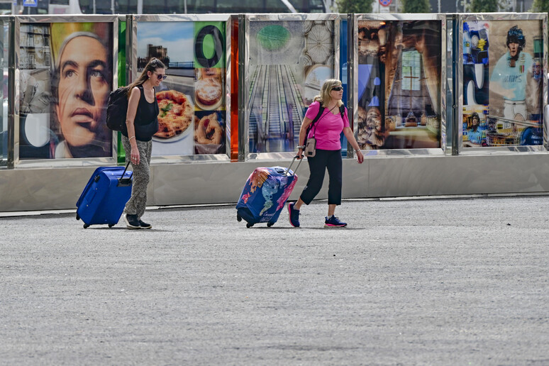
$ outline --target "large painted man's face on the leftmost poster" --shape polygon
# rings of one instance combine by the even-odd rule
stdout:
[[[110,91],[106,48],[95,38],[75,37],[65,45],[58,65],[55,111],[62,135],[72,146],[93,143],[106,129],[104,116]]]

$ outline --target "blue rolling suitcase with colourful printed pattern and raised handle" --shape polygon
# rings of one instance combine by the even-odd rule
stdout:
[[[267,223],[271,227],[277,222],[297,182],[297,175],[290,170],[295,160],[296,157],[288,168],[258,167],[250,174],[236,204],[238,221],[244,219],[247,228],[255,223]],[[302,160],[299,160],[296,170]]]

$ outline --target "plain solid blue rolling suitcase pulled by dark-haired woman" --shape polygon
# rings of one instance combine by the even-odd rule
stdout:
[[[132,172],[124,167],[98,167],[77,201],[77,220],[90,225],[118,223],[131,196]]]

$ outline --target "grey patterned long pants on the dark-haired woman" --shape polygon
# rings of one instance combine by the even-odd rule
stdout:
[[[126,204],[126,214],[137,215],[138,219],[145,213],[147,205],[147,186],[150,180],[150,153],[153,150],[153,141],[136,140],[139,150],[139,164],[131,164],[133,168],[133,184],[131,197]],[[128,138],[122,135],[122,145],[126,150],[126,164],[131,160],[131,145]]]

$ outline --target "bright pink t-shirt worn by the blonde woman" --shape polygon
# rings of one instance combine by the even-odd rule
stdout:
[[[314,120],[318,114],[320,103],[314,101],[307,109],[305,116]],[[334,111],[338,111],[337,114],[333,114],[329,109],[325,108],[322,112],[322,116],[318,118],[318,121],[314,124],[313,128],[309,132],[307,138],[316,138],[316,148],[320,150],[339,150],[341,143],[339,137],[343,128],[349,127],[349,118],[347,116],[347,109],[345,108],[345,114],[341,118],[339,113],[339,107],[336,107]]]

